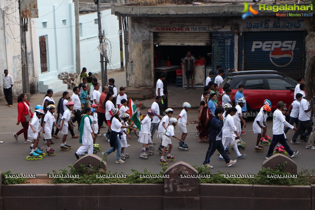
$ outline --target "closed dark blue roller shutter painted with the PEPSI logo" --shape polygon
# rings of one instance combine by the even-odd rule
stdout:
[[[245,32],[244,70],[275,70],[297,78],[303,73],[304,31]]]

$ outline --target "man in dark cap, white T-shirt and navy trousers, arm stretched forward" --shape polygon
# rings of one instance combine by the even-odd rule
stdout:
[[[295,131],[298,130],[294,126],[290,125],[287,121],[285,121],[285,116],[282,114],[283,107],[287,104],[285,104],[283,101],[279,101],[277,105],[278,105],[278,109],[273,112],[273,127],[272,127],[273,136],[272,136],[272,141],[271,141],[268,153],[266,155],[266,159],[272,156],[273,150],[278,145],[278,143],[284,146],[284,149],[287,150],[291,158],[294,157],[299,152],[298,150],[296,151],[291,150],[284,137],[283,124]]]

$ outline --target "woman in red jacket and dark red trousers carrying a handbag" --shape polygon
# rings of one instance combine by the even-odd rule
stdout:
[[[33,117],[33,113],[31,112],[30,103],[27,101],[27,96],[25,93],[20,94],[18,97],[18,122],[16,125],[21,123],[22,129],[17,133],[13,134],[15,141],[18,141],[18,136],[23,133],[24,134],[24,143],[32,143],[31,140],[27,139],[27,130],[29,126],[29,122]]]

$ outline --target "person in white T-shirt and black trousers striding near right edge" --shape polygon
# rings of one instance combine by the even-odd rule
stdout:
[[[300,105],[300,114],[299,114],[299,125],[297,127],[298,131],[295,131],[292,139],[291,139],[291,144],[300,144],[300,142],[296,141],[297,137],[299,135],[301,140],[306,141],[306,137],[312,133],[312,125],[311,125],[311,107],[310,103],[306,99],[301,100],[301,105]],[[304,128],[307,130],[307,132],[302,133]],[[315,147],[310,144],[309,147],[306,146],[307,149],[315,149]]]

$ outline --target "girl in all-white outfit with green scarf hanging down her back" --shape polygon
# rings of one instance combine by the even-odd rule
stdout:
[[[83,144],[79,149],[74,153],[77,160],[79,160],[79,155],[84,154],[85,151],[88,151],[88,154],[93,154],[93,140],[95,139],[94,131],[92,130],[92,120],[90,118],[91,108],[86,107],[84,110],[84,115],[81,118],[81,123],[79,127],[80,137],[79,143]]]

